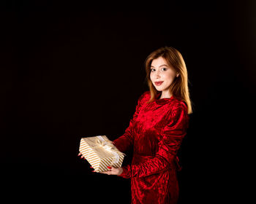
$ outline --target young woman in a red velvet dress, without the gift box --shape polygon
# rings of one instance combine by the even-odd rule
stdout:
[[[132,164],[103,172],[131,178],[132,203],[178,201],[177,151],[192,113],[187,68],[178,50],[161,47],[146,59],[149,91],[138,99],[123,136],[113,141],[121,152],[133,149]]]

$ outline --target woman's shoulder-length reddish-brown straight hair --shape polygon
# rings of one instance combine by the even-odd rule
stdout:
[[[150,79],[152,60],[159,57],[164,58],[167,64],[173,67],[179,74],[170,85],[170,93],[179,100],[184,101],[187,104],[188,114],[192,114],[192,101],[189,97],[187,67],[181,53],[173,47],[161,47],[158,50],[151,52],[151,54],[146,58],[146,80],[148,81],[148,87],[151,93],[151,98],[148,103],[157,99],[157,94],[159,93]]]

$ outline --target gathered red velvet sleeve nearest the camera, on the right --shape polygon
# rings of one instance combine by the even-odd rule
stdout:
[[[119,176],[124,178],[150,176],[171,168],[181,141],[187,134],[188,124],[187,106],[181,103],[173,107],[168,116],[167,125],[162,128],[161,140],[158,143],[159,148],[155,157],[137,165],[124,166],[123,173]]]

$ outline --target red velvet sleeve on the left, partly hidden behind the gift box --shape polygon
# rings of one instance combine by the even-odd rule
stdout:
[[[140,98],[138,99],[138,104],[135,109],[135,113],[133,114],[132,119],[129,121],[129,127],[124,131],[124,135],[120,136],[116,140],[113,141],[113,144],[116,146],[116,148],[120,152],[126,152],[132,145],[133,145],[133,127],[134,127],[134,121],[138,117],[138,114],[140,112],[141,107],[143,106],[143,103],[146,102],[146,95],[148,95],[148,91],[140,95]]]

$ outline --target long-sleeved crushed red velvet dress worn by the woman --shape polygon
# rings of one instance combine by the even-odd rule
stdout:
[[[149,91],[140,96],[129,127],[113,141],[121,152],[133,148],[132,164],[120,176],[131,178],[132,203],[174,204],[176,154],[189,127],[187,105],[174,96],[146,103],[149,98]]]

